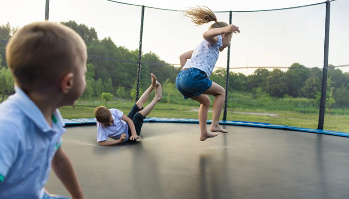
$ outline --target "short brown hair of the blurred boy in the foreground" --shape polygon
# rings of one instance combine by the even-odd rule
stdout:
[[[30,91],[59,83],[57,80],[85,59],[85,49],[84,41],[71,28],[37,22],[13,35],[6,47],[6,59],[17,86]]]

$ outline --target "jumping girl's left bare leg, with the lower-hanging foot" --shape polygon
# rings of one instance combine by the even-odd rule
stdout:
[[[200,103],[199,109],[199,123],[200,123],[200,140],[205,141],[207,138],[215,137],[217,133],[211,133],[207,131],[207,113],[210,106],[210,99],[207,95],[201,94],[199,96],[191,97]]]

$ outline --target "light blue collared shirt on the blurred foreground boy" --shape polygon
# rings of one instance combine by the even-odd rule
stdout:
[[[41,199],[65,132],[59,111],[52,127],[20,89],[0,104],[0,199]]]

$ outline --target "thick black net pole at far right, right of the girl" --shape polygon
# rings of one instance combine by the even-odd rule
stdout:
[[[327,89],[327,69],[329,63],[329,34],[330,34],[330,2],[326,1],[326,17],[325,17],[325,43],[324,43],[324,68],[323,80],[321,87],[321,99],[319,108],[318,129],[324,129],[325,105],[326,105],[326,89]]]

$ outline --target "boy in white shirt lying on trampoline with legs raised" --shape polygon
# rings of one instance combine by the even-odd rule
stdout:
[[[162,97],[161,84],[156,80],[155,75],[151,74],[152,83],[142,94],[140,99],[132,107],[126,116],[118,109],[108,109],[99,106],[95,109],[97,119],[97,142],[100,146],[113,146],[127,141],[135,141],[140,138],[143,119],[153,110],[155,105]],[[150,104],[143,108],[153,89],[155,89],[154,99]],[[108,140],[111,137],[115,140]]]

